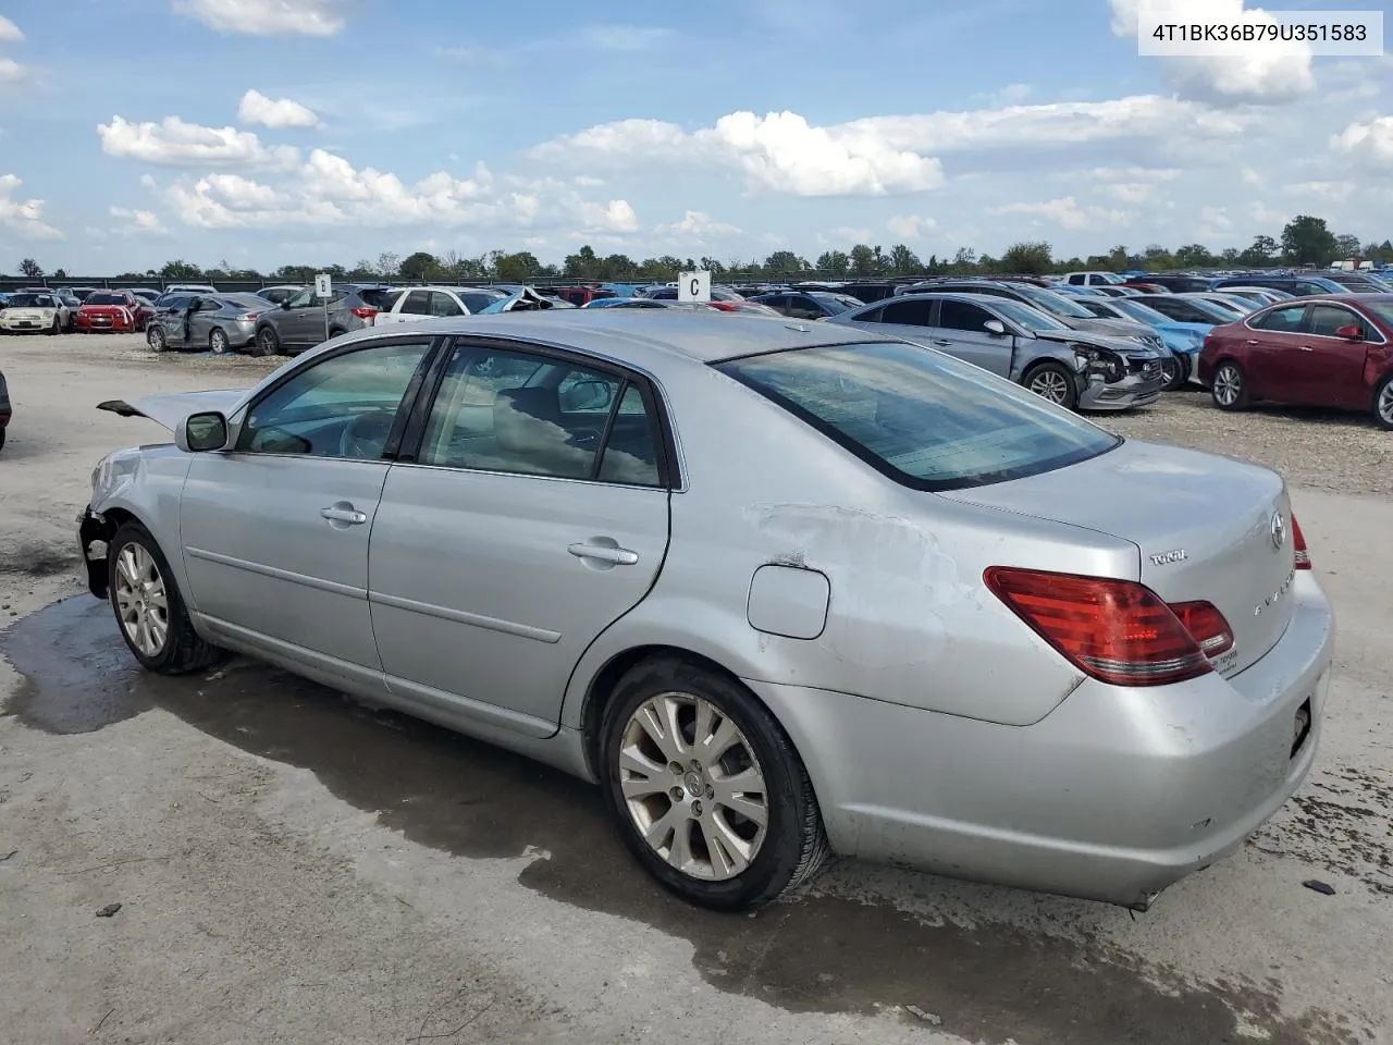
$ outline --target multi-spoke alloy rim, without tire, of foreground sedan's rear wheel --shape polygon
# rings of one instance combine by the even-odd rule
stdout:
[[[624,807],[670,867],[708,882],[749,868],[769,828],[754,747],[710,701],[663,692],[641,704],[618,744]]]

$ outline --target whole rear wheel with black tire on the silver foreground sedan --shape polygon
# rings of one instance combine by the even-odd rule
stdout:
[[[733,679],[676,656],[639,663],[605,709],[599,754],[624,844],[690,903],[759,907],[827,857],[808,771]]]

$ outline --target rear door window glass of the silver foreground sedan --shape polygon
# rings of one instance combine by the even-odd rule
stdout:
[[[624,378],[525,351],[457,347],[421,464],[660,485],[653,411]]]

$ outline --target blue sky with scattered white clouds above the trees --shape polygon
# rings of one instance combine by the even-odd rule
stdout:
[[[29,0],[0,270],[1393,235],[1387,56],[1139,57],[1139,1]]]

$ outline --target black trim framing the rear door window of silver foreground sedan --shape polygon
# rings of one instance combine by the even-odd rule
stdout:
[[[683,467],[684,463],[681,450],[677,444],[671,424],[671,414],[667,408],[667,397],[662,393],[660,385],[653,375],[630,364],[620,362],[618,359],[610,359],[603,355],[595,355],[582,350],[570,348],[567,346],[506,336],[454,334],[440,339],[440,344],[436,347],[436,355],[430,361],[430,365],[425,369],[421,386],[417,389],[415,400],[411,404],[411,410],[408,411],[407,421],[403,426],[401,439],[394,447],[391,446],[391,439],[389,438],[387,440],[389,447],[393,449],[396,454],[393,460],[397,464],[410,464],[418,468],[447,468],[447,465],[440,464],[425,464],[418,460],[418,456],[421,453],[421,443],[425,439],[426,425],[430,422],[430,411],[435,408],[436,397],[440,394],[440,386],[444,383],[446,372],[450,369],[450,362],[454,359],[456,350],[458,348],[528,353],[554,362],[584,366],[585,369],[605,373],[610,378],[617,378],[620,380],[621,393],[628,385],[637,386],[639,394],[644,397],[644,410],[648,412],[649,424],[656,426],[653,435],[656,436],[655,449],[657,450],[657,483],[653,486],[645,486],[638,483],[610,482],[607,479],[574,479],[564,475],[534,475],[531,472],[506,471],[495,472],[479,468],[460,467],[450,467],[450,471],[511,475],[520,479],[550,479],[554,482],[593,482],[602,486],[667,490],[669,493],[681,493],[687,489],[687,470]],[[610,418],[606,421],[606,440],[617,410],[618,398],[616,398],[614,410],[610,411]],[[396,433],[396,426],[393,428],[393,433]],[[606,443],[602,440],[595,454],[595,468],[598,468],[603,461]]]

